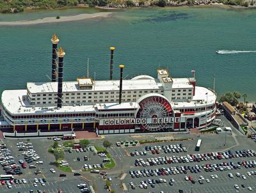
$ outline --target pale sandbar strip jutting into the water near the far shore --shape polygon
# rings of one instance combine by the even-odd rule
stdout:
[[[42,19],[35,20],[18,20],[12,22],[0,22],[0,26],[21,26],[21,25],[35,25],[35,24],[47,24],[47,23],[56,23],[56,22],[69,22],[75,20],[85,20],[85,19],[93,19],[93,18],[104,18],[109,17],[111,12],[99,12],[99,13],[83,13],[74,16],[62,16],[60,19],[56,19],[56,17],[45,17]]]

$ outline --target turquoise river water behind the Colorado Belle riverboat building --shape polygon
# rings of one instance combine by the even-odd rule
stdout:
[[[67,10],[58,12],[65,15]],[[68,15],[81,12],[86,10],[68,10]],[[41,13],[46,14],[38,12],[33,19],[41,18]],[[1,20],[16,17],[0,15]],[[24,89],[28,81],[49,81],[52,33],[57,33],[59,45],[65,48],[65,81],[86,74],[87,58],[92,77],[96,72],[96,79],[108,79],[109,47],[115,46],[116,79],[121,63],[125,65],[124,77],[141,73],[156,77],[159,66],[168,67],[172,77],[188,77],[196,70],[200,86],[212,88],[215,74],[218,95],[239,91],[248,95],[248,101],[256,99],[256,53],[215,53],[256,50],[255,10],[147,8],[115,11],[109,19],[1,26],[1,91]]]

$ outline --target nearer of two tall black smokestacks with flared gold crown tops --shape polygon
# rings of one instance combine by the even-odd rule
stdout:
[[[60,47],[60,50],[57,52],[57,54],[59,57],[57,107],[61,108],[61,106],[62,106],[62,82],[63,82],[63,59],[65,56],[65,52]]]

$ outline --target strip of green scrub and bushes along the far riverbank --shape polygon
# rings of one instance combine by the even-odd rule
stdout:
[[[1,13],[29,10],[97,7],[102,9],[150,7],[228,5],[234,8],[256,8],[256,0],[0,0]]]

